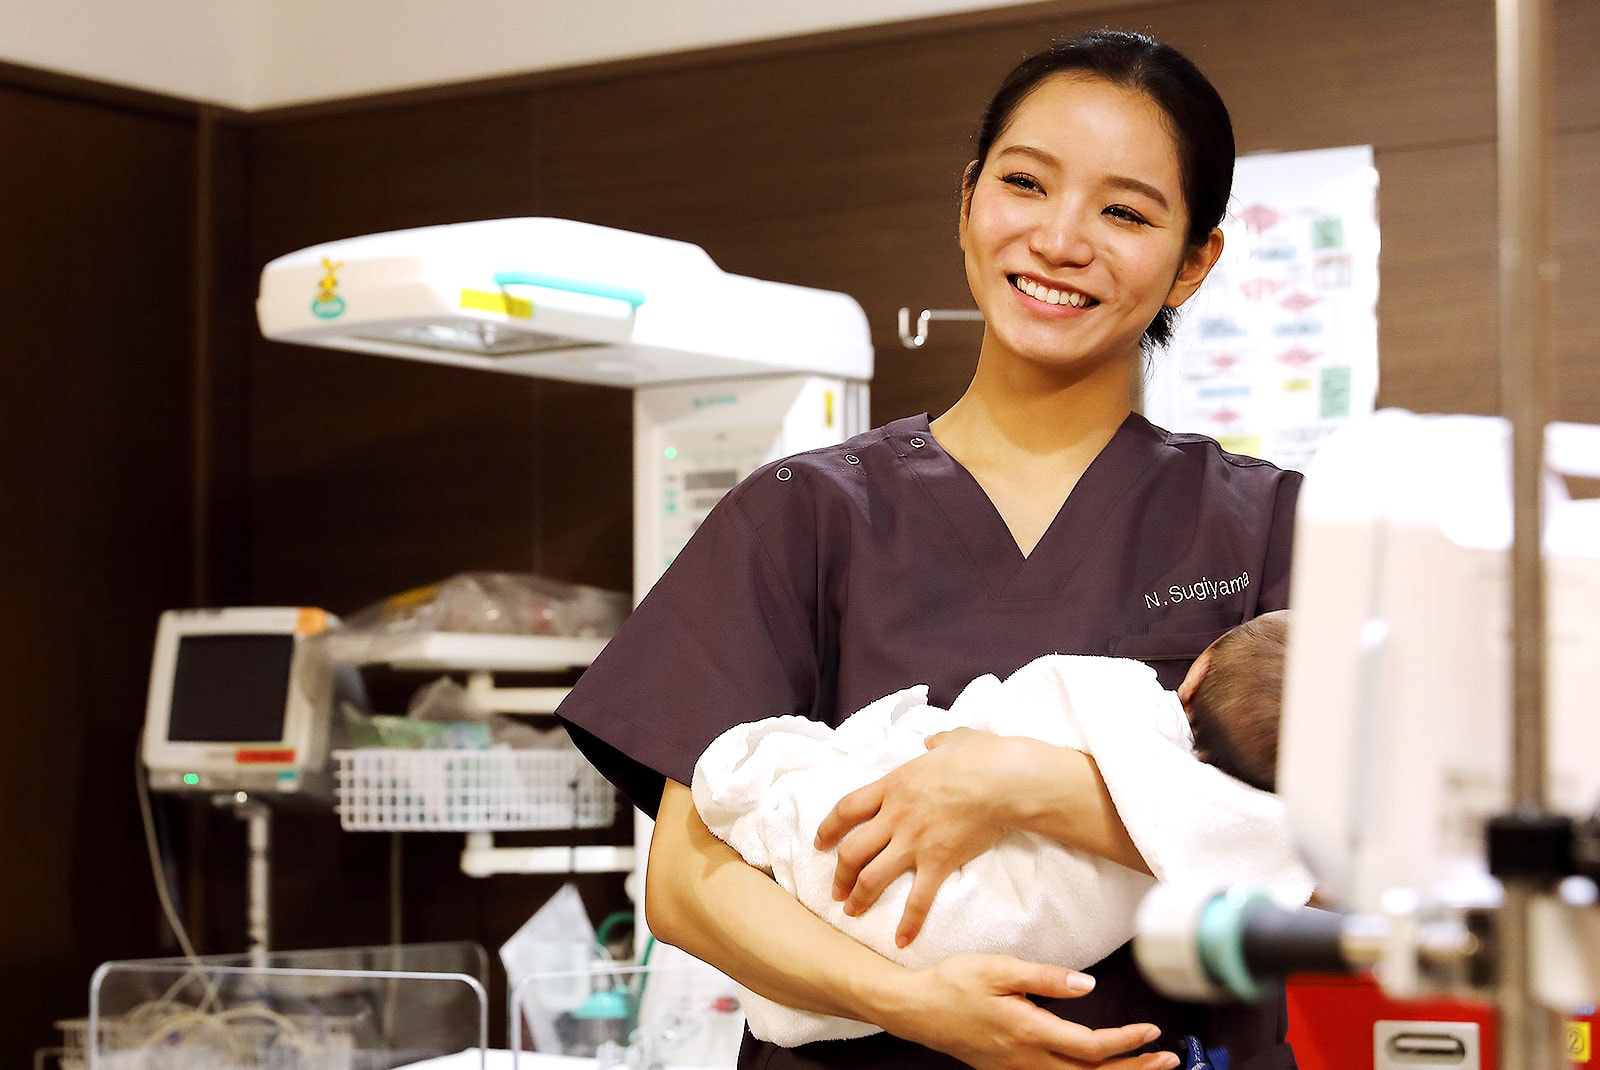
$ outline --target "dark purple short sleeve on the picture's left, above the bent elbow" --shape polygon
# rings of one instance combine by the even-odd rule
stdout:
[[[750,486],[770,472],[712,510],[557,710],[646,814],[728,728],[811,710],[814,518],[803,496],[773,502]]]

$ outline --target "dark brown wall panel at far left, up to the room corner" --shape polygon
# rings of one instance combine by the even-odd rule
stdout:
[[[134,804],[189,592],[194,126],[0,77],[0,1062],[160,948]]]

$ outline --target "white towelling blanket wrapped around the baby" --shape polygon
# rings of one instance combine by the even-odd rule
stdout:
[[[1091,753],[1155,878],[1034,833],[1008,833],[941,884],[909,947],[894,945],[894,928],[910,873],[866,913],[846,916],[832,897],[837,852],[813,846],[818,825],[843,795],[925,753],[928,736],[960,726]],[[739,725],[701,755],[691,790],[718,838],[886,958],[922,969],[992,952],[1082,969],[1133,937],[1134,910],[1155,880],[1250,881],[1286,902],[1310,896],[1282,803],[1195,760],[1186,729],[1178,697],[1142,662],[1051,654],[1003,683],[974,680],[949,710],[928,705],[926,686],[915,686],[838,728],[805,717]],[[744,1009],[757,1038],[782,1046],[880,1032],[752,992]]]

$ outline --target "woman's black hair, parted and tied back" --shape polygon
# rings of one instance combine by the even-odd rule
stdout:
[[[989,158],[995,139],[1011,125],[1022,101],[1045,78],[1056,74],[1083,74],[1150,98],[1166,115],[1178,146],[1184,208],[1189,211],[1186,245],[1205,245],[1222,222],[1234,187],[1234,123],[1216,88],[1187,56],[1144,34],[1091,30],[1056,42],[1011,69],[1000,83],[982,123],[978,126],[976,166],[968,171],[968,189]],[[1173,336],[1174,309],[1162,307],[1144,331],[1147,345],[1165,345]]]

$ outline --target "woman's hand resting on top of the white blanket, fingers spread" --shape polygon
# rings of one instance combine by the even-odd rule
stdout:
[[[901,873],[912,889],[894,931],[912,942],[944,878],[992,848],[1014,819],[1018,773],[1034,741],[957,728],[928,737],[928,753],[838,800],[816,848],[838,846],[834,899],[854,916]]]

